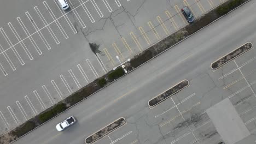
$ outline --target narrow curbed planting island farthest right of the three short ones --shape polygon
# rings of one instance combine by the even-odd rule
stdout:
[[[242,55],[246,51],[251,50],[252,47],[253,47],[253,45],[252,45],[251,42],[248,42],[248,43],[245,43],[245,44],[241,45],[240,47],[238,47],[234,51],[231,51],[227,55],[225,55],[225,56],[219,58],[217,61],[213,62],[211,64],[211,68],[213,70],[216,70],[219,67],[222,67],[222,65],[232,61],[233,59],[235,59],[236,57]]]

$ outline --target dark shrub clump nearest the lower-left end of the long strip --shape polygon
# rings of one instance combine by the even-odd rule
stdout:
[[[34,122],[28,121],[18,129],[13,131],[12,134],[15,135],[16,137],[20,137],[28,133],[28,131],[33,130],[34,128],[36,128],[36,124]]]

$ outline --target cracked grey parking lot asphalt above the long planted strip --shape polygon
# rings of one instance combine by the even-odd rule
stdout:
[[[187,25],[182,7],[199,17],[224,1],[67,2],[0,5],[0,135]]]

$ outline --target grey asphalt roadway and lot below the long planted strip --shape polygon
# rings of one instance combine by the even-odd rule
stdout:
[[[210,68],[242,44],[255,44],[255,15],[243,16],[256,12],[254,8],[255,1],[248,2],[15,143],[84,143],[92,133],[124,117],[123,127],[95,143],[216,144],[223,137],[206,110],[224,99],[251,134],[243,142],[255,141],[255,49],[217,70]],[[148,100],[184,79],[189,80],[187,88],[150,109]],[[54,129],[71,115],[76,124],[62,133]]]

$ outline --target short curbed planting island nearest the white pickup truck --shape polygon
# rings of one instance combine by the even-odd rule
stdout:
[[[121,118],[117,119],[116,121],[114,121],[113,123],[110,123],[109,125],[107,125],[107,127],[104,127],[101,130],[97,131],[96,133],[88,136],[85,139],[85,143],[87,143],[87,144],[94,143],[95,141],[97,141],[98,139],[101,139],[102,137],[111,133],[115,129],[120,128],[125,123],[126,123],[125,118],[121,117]]]

